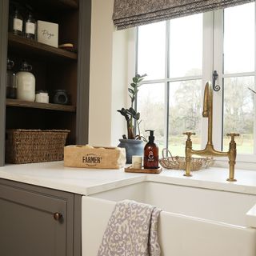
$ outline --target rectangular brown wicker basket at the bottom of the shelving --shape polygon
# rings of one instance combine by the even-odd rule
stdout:
[[[6,162],[63,160],[70,130],[6,130]]]

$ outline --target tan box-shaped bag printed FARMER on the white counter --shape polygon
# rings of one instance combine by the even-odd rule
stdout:
[[[126,150],[120,147],[79,146],[64,148],[64,166],[119,169],[126,164]]]

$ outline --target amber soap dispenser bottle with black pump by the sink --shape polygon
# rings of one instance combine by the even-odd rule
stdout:
[[[158,169],[158,146],[154,143],[154,130],[150,132],[149,142],[144,147],[144,169]]]

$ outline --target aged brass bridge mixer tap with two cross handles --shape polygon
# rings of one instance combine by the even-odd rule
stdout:
[[[190,177],[191,170],[191,157],[193,154],[197,154],[200,156],[216,156],[216,157],[228,157],[230,164],[230,175],[226,180],[229,182],[236,182],[234,178],[234,165],[235,159],[237,155],[236,150],[236,142],[234,141],[234,137],[239,136],[239,134],[226,134],[231,137],[230,148],[228,152],[222,152],[218,150],[214,150],[213,145],[213,89],[210,82],[206,82],[205,92],[204,92],[204,103],[203,103],[203,118],[208,118],[208,142],[206,144],[206,148],[204,150],[193,150],[192,149],[192,141],[190,139],[191,135],[195,135],[195,133],[186,132],[183,134],[187,135],[186,140],[186,173],[184,176]]]

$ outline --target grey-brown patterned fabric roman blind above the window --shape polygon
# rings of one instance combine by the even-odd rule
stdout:
[[[114,0],[114,25],[118,30],[198,14],[254,0]]]

